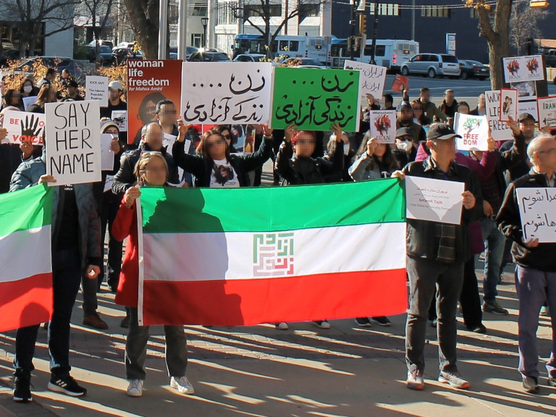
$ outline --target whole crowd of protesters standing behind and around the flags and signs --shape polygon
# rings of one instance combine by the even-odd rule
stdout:
[[[44,104],[82,100],[75,81],[62,76],[62,90],[54,87],[56,71],[49,70],[36,85],[25,79],[20,88],[6,90],[2,84],[3,112],[22,111],[24,97],[36,96],[27,111],[44,113]],[[61,76],[61,74],[60,74]],[[523,389],[539,391],[539,352],[536,332],[539,313],[556,320],[556,244],[523,240],[516,204],[516,188],[556,186],[556,140],[547,131],[535,137],[535,117],[522,113],[508,122],[508,137],[497,143],[488,138],[489,149],[468,153],[456,150],[458,137],[452,127],[456,112],[484,115],[485,97],[470,110],[457,101],[453,90],[445,90],[436,106],[428,88],[410,101],[409,90],[394,107],[385,94],[382,108],[395,109],[393,143],[380,143],[370,134],[370,111],[381,108],[377,98],[367,95],[359,131],[344,132],[337,125],[329,131],[284,130],[261,126],[214,126],[202,132],[199,126],[179,120],[177,106],[162,95],[149,96],[153,111],[146,110],[142,129],[125,133],[111,120],[113,110],[125,110],[120,81],[109,84],[109,104],[101,108],[101,132],[113,136],[114,169],[103,172],[102,181],[55,187],[52,259],[54,313],[49,323],[48,345],[51,379],[48,388],[81,396],[87,390],[70,375],[70,319],[79,291],[83,292],[83,325],[107,329],[97,312],[97,291],[106,279],[115,302],[124,307],[120,325],[129,327],[125,368],[127,394],[142,395],[149,327],[138,325],[138,230],[136,199],[140,186],[246,187],[261,184],[262,165],[274,161],[272,185],[305,185],[341,181],[368,181],[407,176],[457,181],[465,184],[460,224],[407,220],[407,277],[409,309],[406,324],[407,387],[423,389],[424,347],[427,322],[436,327],[439,340],[439,381],[456,389],[469,382],[457,368],[457,309],[471,332],[485,333],[482,314],[508,314],[497,300],[497,286],[509,253],[516,262],[519,307],[519,365]],[[158,97],[160,96],[160,97]],[[148,114],[147,114],[148,113]],[[152,113],[152,114],[151,114]],[[165,133],[176,137],[165,147]],[[6,129],[0,127],[0,141]],[[190,147],[186,149],[186,139]],[[243,140],[242,140],[243,139]],[[243,147],[243,149],[241,149]],[[29,143],[0,145],[0,193],[40,183],[56,182],[46,174],[45,147]],[[243,152],[238,152],[237,149]],[[107,186],[108,184],[108,186]],[[108,262],[104,264],[104,238],[108,231]],[[122,261],[122,242],[126,239]],[[484,253],[481,291],[475,275],[477,256]],[[122,313],[123,314],[123,313]],[[314,321],[330,327],[326,318]],[[390,326],[387,317],[355,318],[357,325]],[[286,322],[275,324],[287,330]],[[31,400],[33,353],[40,327],[17,329],[15,343],[15,388],[13,399]],[[181,326],[165,326],[166,363],[170,385],[179,393],[195,390],[186,377],[187,344]],[[553,333],[554,334],[554,333]],[[556,336],[546,363],[548,384],[556,386]]]

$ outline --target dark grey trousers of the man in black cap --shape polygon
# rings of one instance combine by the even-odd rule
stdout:
[[[436,293],[436,332],[439,340],[439,367],[457,371],[457,300],[464,281],[464,263],[441,263],[407,257],[409,310],[405,326],[405,361],[409,370],[425,369],[425,330],[430,303]],[[438,290],[437,290],[438,287]]]

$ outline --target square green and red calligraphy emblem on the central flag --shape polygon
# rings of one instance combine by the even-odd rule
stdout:
[[[253,276],[293,275],[293,232],[253,235]]]

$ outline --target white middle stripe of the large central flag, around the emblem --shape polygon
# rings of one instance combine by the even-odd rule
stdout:
[[[261,245],[254,243],[256,235],[262,235]],[[149,254],[143,259],[145,281],[263,279],[405,268],[404,222],[270,233],[143,234],[143,245]]]

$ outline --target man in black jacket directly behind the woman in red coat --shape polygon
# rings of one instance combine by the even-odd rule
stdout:
[[[142,133],[145,133],[142,136],[143,144],[139,149],[124,152],[122,158],[120,158],[120,170],[115,174],[114,182],[112,183],[112,191],[116,195],[124,195],[126,190],[135,183],[136,176],[133,174],[133,170],[135,170],[135,165],[143,152],[161,152],[168,164],[168,172],[170,173],[168,182],[172,184],[179,183],[178,170],[174,163],[174,158],[167,154],[166,149],[162,146],[164,136],[161,126],[156,122],[152,122],[143,126],[143,129]]]

